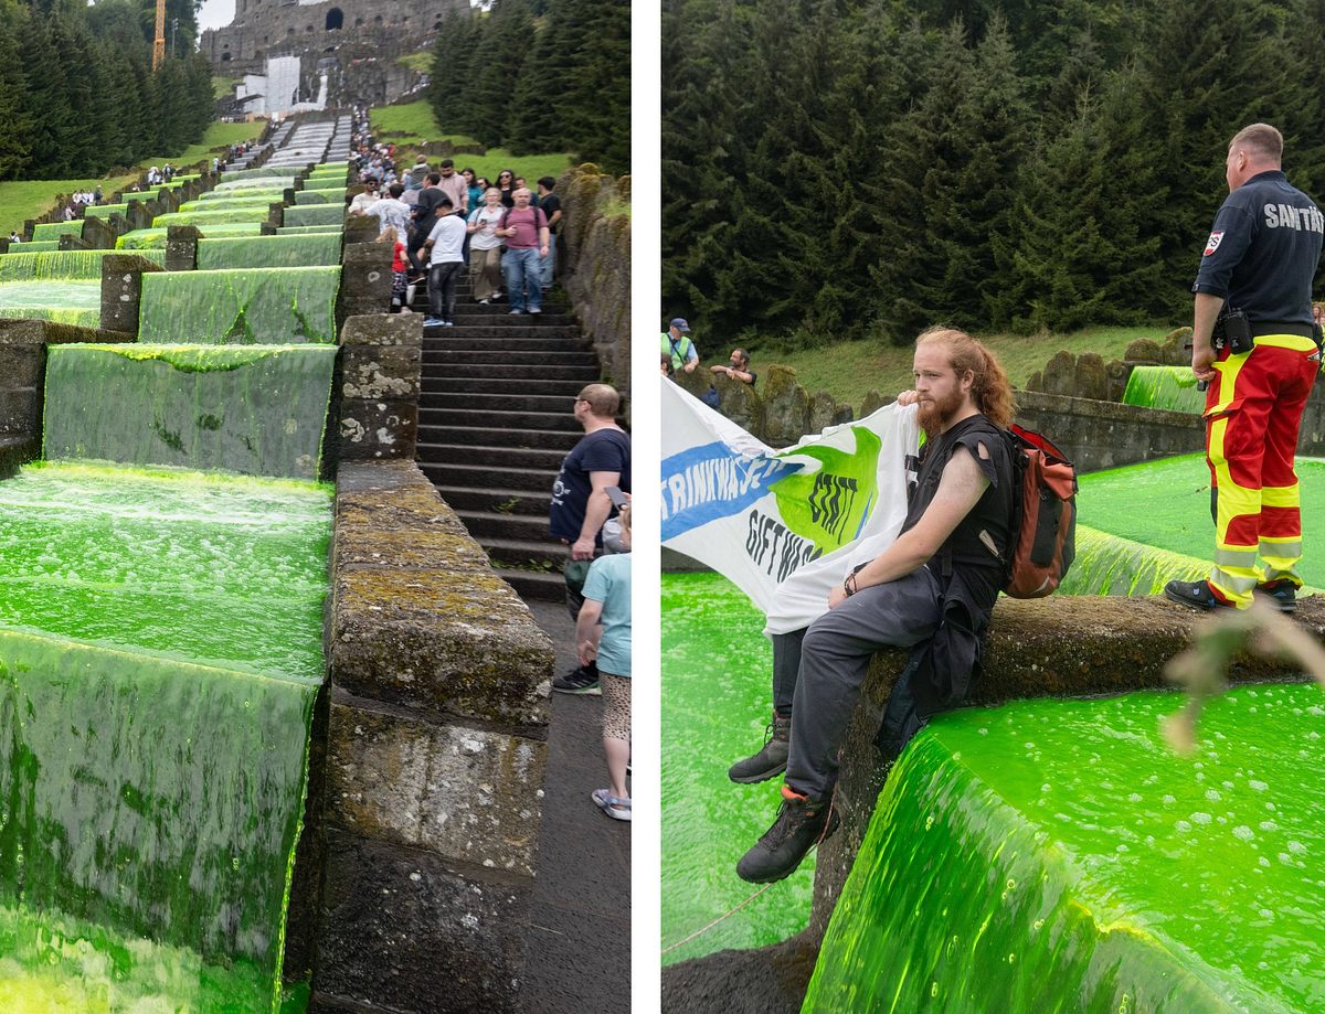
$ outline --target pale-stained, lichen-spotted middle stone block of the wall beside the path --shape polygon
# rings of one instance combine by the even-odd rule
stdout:
[[[329,823],[534,875],[547,744],[331,703]]]

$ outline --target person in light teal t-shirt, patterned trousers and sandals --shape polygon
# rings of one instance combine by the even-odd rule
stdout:
[[[598,663],[603,690],[603,753],[611,785],[592,800],[613,821],[631,819],[625,770],[631,760],[631,504],[621,507],[621,552],[590,564],[575,620],[582,666]]]

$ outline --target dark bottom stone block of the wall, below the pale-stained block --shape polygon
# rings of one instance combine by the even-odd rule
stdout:
[[[530,892],[523,879],[331,833],[313,989],[399,1014],[523,1010]]]

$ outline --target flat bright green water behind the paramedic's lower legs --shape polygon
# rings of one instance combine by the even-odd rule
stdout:
[[[1325,461],[1297,459],[1302,498],[1302,580],[1325,585]],[[1083,475],[1079,523],[1182,556],[1208,560],[1215,548],[1210,519],[1210,470],[1204,457],[1128,465]],[[1075,564],[1073,564],[1075,567]]]

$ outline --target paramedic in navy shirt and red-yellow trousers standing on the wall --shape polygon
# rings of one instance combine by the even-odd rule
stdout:
[[[1207,580],[1170,581],[1165,594],[1195,609],[1246,609],[1259,592],[1291,613],[1302,585],[1293,451],[1320,369],[1312,278],[1325,217],[1289,185],[1283,154],[1283,135],[1267,123],[1228,143],[1228,199],[1192,285],[1191,372],[1210,384],[1215,561]]]

